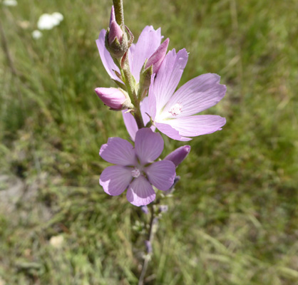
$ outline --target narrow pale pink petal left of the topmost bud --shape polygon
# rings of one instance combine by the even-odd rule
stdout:
[[[101,30],[101,33],[99,33],[98,39],[96,40],[99,55],[101,56],[101,61],[103,66],[106,68],[108,75],[111,76],[112,79],[120,81],[120,79],[114,73],[114,71],[118,71],[120,73],[119,68],[115,65],[110,53],[105,47],[105,36],[106,30],[103,29]]]

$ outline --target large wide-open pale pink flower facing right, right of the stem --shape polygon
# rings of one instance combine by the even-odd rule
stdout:
[[[220,76],[207,73],[185,83],[177,91],[188,54],[185,49],[169,51],[149,88],[150,116],[160,132],[174,140],[205,135],[221,130],[225,118],[195,115],[216,105],[225,95]]]

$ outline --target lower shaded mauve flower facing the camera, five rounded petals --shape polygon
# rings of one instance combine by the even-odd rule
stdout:
[[[135,147],[122,138],[109,138],[99,155],[114,165],[103,170],[99,184],[108,195],[116,196],[128,188],[126,197],[135,206],[153,202],[155,191],[168,190],[175,179],[175,165],[170,160],[156,160],[163,152],[163,138],[150,128],[135,135]]]

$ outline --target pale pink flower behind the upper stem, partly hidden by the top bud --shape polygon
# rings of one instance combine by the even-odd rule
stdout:
[[[120,73],[119,68],[115,65],[110,53],[105,47],[105,36],[106,30],[103,29],[96,40],[101,61],[103,62],[103,66],[106,68],[108,75],[111,76],[113,80],[121,82],[114,72],[117,71]],[[140,70],[145,63],[145,60],[150,58],[160,46],[161,38],[160,28],[155,31],[153,26],[145,26],[142,33],[140,33],[138,42],[135,44],[133,43],[130,46],[128,51],[128,61],[130,71],[136,82],[140,81]]]

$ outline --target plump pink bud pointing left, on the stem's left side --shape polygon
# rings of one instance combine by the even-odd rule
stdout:
[[[96,94],[112,110],[133,108],[130,98],[120,88],[96,88]]]

